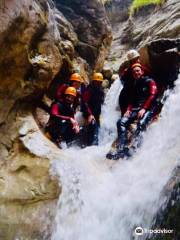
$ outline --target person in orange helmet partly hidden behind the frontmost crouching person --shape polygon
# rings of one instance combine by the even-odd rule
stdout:
[[[56,92],[56,98],[57,99],[63,98],[65,90],[70,86],[74,87],[77,91],[77,96],[74,100],[74,108],[76,109],[80,105],[80,102],[81,102],[81,84],[82,83],[83,83],[83,80],[79,73],[71,74],[70,79],[69,79],[69,84],[63,83],[62,85],[60,85],[58,87],[57,92]]]

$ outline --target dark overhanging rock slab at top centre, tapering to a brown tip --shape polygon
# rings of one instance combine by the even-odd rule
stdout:
[[[78,37],[78,54],[93,68],[100,70],[112,40],[111,27],[101,1],[56,0],[56,3],[74,27]]]

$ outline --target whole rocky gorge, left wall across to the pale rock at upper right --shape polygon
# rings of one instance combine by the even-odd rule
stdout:
[[[74,71],[86,82],[103,67],[117,73],[129,48],[140,49],[152,69],[162,59],[162,69],[171,63],[173,73],[179,64],[177,49],[158,55],[156,40],[162,48],[170,39],[176,48],[180,3],[167,0],[129,17],[131,1],[121,2],[0,2],[0,239],[51,239],[63,188],[51,160],[63,153],[40,127],[36,107],[44,94],[53,98],[60,81]],[[122,18],[114,17],[118,12]]]

